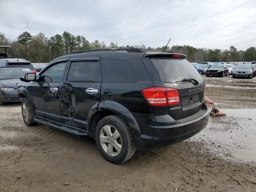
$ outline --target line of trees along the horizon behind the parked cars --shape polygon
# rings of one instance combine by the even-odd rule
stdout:
[[[74,51],[104,49],[104,48],[142,48],[145,51],[162,51],[165,46],[152,48],[145,45],[118,46],[117,43],[110,42],[106,45],[103,41],[95,40],[89,42],[84,36],[74,36],[64,31],[62,35],[56,34],[50,38],[45,34],[39,33],[32,36],[29,32],[23,32],[17,39],[10,40],[4,33],[0,32],[0,45],[12,47],[15,58],[25,58],[30,62],[48,63],[54,58],[70,54]],[[229,50],[195,48],[189,45],[168,46],[166,51],[182,53],[187,56],[190,62],[210,61],[210,62],[235,62],[235,61],[254,61],[256,60],[256,48],[250,47],[237,50],[230,46]]]

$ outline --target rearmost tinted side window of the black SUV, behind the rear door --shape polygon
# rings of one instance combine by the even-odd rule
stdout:
[[[132,65],[125,60],[102,59],[101,72],[104,82],[138,82]]]

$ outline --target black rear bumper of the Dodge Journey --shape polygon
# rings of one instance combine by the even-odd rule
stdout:
[[[206,127],[209,120],[209,110],[204,104],[204,109],[191,118],[186,118],[186,122],[175,121],[167,116],[162,118],[145,114],[133,114],[137,120],[141,134],[134,138],[138,148],[148,148],[155,146],[166,146],[186,140]],[[196,118],[194,118],[196,117]],[[163,122],[161,120],[172,120]]]

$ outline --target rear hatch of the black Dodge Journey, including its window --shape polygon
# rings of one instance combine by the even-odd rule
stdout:
[[[196,114],[201,116],[205,83],[197,70],[185,58],[164,55],[150,57],[150,60],[161,80],[153,82],[154,86],[179,90],[180,104],[168,105],[168,114],[180,122],[190,116],[196,118]]]

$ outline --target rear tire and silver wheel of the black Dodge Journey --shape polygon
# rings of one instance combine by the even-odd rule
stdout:
[[[136,151],[128,127],[116,115],[104,117],[98,122],[95,140],[102,156],[114,164],[129,160]]]

